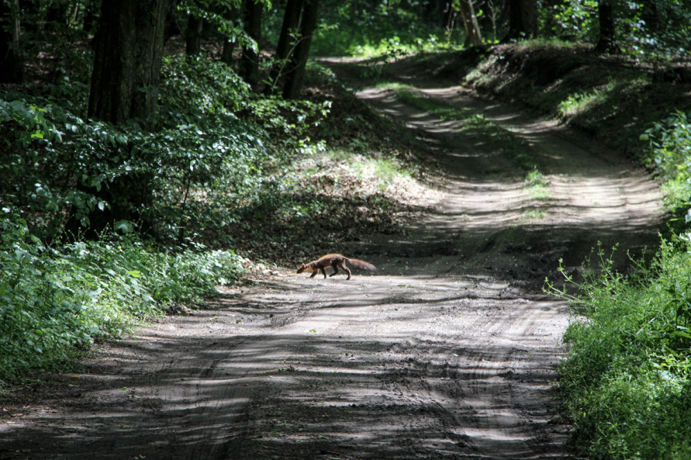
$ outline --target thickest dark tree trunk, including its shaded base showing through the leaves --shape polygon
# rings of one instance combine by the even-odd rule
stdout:
[[[166,13],[172,0],[103,0],[89,94],[88,117],[113,124],[139,119],[155,128],[158,81]],[[82,187],[108,207],[93,210],[87,236],[112,228],[116,220],[140,222],[148,231],[146,211],[153,200],[146,173],[122,173],[101,189]],[[68,229],[84,230],[79,222]]]

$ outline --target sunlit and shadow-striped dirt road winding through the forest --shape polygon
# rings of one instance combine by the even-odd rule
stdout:
[[[0,459],[568,458],[553,381],[569,312],[540,288],[598,240],[656,247],[656,186],[553,122],[423,90],[524,139],[547,193],[458,122],[361,90],[446,171],[404,235],[338,248],[379,274],[290,267],[139,329],[0,419]]]

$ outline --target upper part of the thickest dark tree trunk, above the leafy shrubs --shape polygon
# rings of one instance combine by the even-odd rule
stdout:
[[[172,0],[103,0],[88,117],[153,128],[167,10]]]

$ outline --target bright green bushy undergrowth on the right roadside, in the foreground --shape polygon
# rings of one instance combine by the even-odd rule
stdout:
[[[589,458],[691,455],[691,238],[663,242],[625,277],[598,252],[571,298],[561,366],[564,411]],[[573,282],[567,276],[567,280]]]

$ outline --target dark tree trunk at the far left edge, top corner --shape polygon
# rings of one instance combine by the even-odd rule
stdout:
[[[24,66],[19,48],[19,0],[0,0],[0,82],[22,83],[23,79]]]

